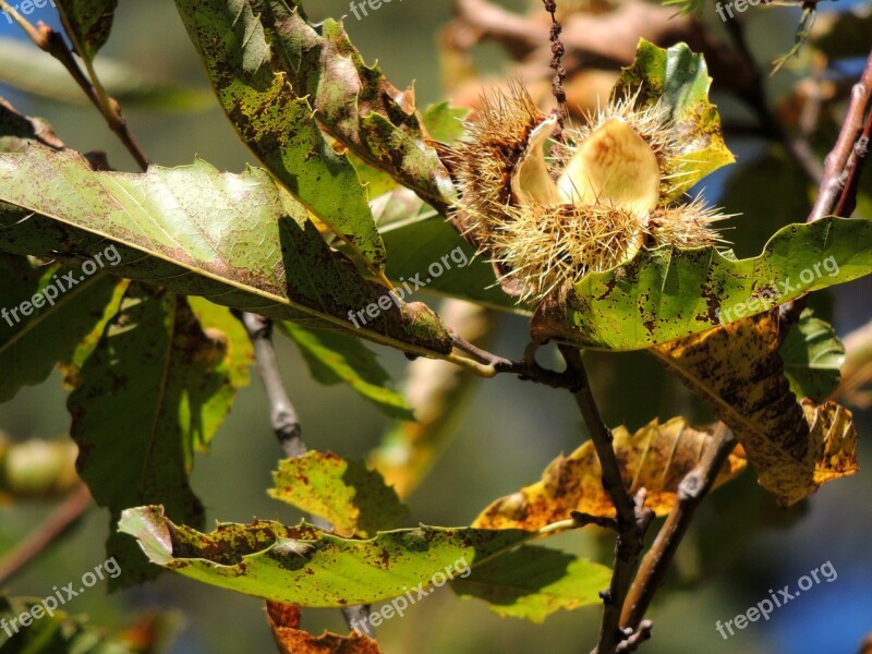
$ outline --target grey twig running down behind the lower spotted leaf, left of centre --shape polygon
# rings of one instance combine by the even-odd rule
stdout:
[[[247,312],[237,312],[235,315],[242,320],[254,346],[257,374],[266,387],[266,395],[269,399],[269,420],[272,424],[272,431],[276,433],[286,457],[289,459],[301,457],[306,453],[306,445],[303,443],[303,429],[300,425],[300,419],[290,397],[288,397],[284,382],[281,379],[279,360],[276,356],[276,348],[272,343],[272,320]],[[322,531],[330,532],[334,529],[330,522],[318,516],[310,516],[308,521]],[[368,620],[364,619],[368,615],[368,605],[342,607],[342,616],[350,629],[359,629],[370,638],[375,639],[375,631]]]

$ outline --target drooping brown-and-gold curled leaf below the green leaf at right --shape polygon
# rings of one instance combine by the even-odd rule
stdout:
[[[652,349],[736,434],[760,484],[783,506],[857,471],[851,414],[802,404],[778,355],[777,311]]]

